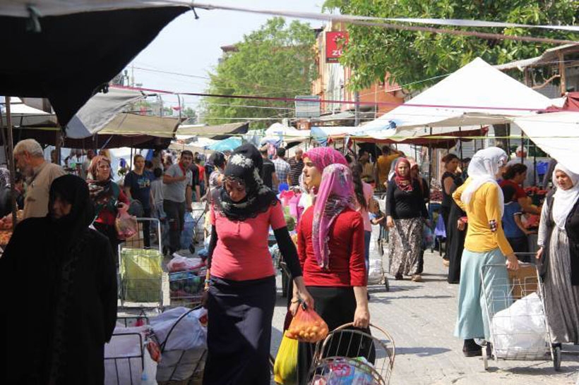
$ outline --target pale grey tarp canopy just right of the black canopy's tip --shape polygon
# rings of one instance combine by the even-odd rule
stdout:
[[[143,100],[147,96],[140,91],[114,87],[109,88],[109,92],[99,92],[88,99],[66,125],[66,136],[73,139],[88,138],[107,127],[117,115],[126,110],[129,104]],[[127,130],[132,130],[129,126],[137,122],[133,123],[129,114],[123,116],[120,119],[123,126],[127,127]],[[120,126],[119,119],[113,126]]]

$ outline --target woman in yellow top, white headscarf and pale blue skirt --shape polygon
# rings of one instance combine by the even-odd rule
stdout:
[[[508,279],[506,269],[493,268],[491,274],[485,274],[482,282],[481,268],[485,264],[505,264],[506,257],[506,268],[518,269],[517,257],[501,226],[504,198],[496,183],[506,162],[507,155],[499,147],[479,150],[468,166],[469,178],[453,193],[453,199],[468,217],[465,250],[460,262],[458,319],[455,328],[455,336],[465,340],[462,352],[467,357],[482,355],[482,349],[474,342],[474,338],[489,341],[488,320],[482,311],[482,285],[485,288],[496,288],[499,287],[494,285],[496,280],[504,282]],[[505,296],[508,298],[508,293]],[[498,312],[501,309],[494,310]]]

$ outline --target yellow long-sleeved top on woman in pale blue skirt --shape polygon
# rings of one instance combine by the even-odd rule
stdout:
[[[472,194],[470,204],[467,206],[460,200],[460,196],[470,181],[471,179],[468,178],[453,193],[456,204],[468,216],[465,249],[473,252],[487,252],[499,247],[503,255],[513,254],[513,247],[508,243],[501,224],[499,187],[494,183],[484,183]],[[491,230],[491,221],[494,221],[494,231]]]

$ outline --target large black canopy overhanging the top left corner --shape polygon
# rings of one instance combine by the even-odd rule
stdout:
[[[0,3],[0,94],[47,97],[66,126],[171,20],[191,9],[152,0]]]

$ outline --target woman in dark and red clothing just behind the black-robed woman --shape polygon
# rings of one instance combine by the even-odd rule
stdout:
[[[107,157],[97,155],[92,158],[89,166],[90,175],[94,179],[87,179],[90,198],[95,204],[95,219],[92,224],[97,231],[109,238],[115,255],[121,241],[117,236],[117,228],[114,226],[119,214],[119,208],[129,204],[129,199],[117,183],[112,180],[111,161]]]

